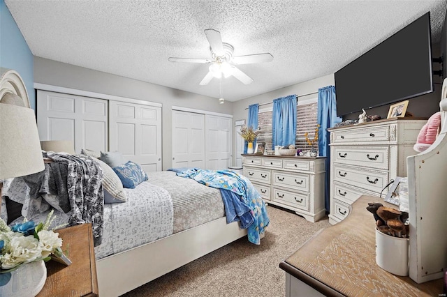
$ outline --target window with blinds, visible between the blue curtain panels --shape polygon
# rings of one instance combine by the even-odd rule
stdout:
[[[314,131],[317,125],[318,102],[314,100],[306,100],[304,103],[298,101],[296,110],[296,147],[300,150],[309,149],[309,145],[305,141],[305,132],[309,133],[309,138],[314,138]],[[258,142],[265,142],[266,149],[272,148],[272,107],[259,109],[258,126],[261,128],[261,134],[258,136]],[[315,147],[318,150],[318,147]]]

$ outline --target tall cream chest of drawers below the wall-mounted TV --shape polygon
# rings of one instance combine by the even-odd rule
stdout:
[[[395,118],[328,129],[331,224],[346,218],[361,195],[379,197],[391,179],[406,176],[406,157],[416,155],[413,145],[425,123]]]

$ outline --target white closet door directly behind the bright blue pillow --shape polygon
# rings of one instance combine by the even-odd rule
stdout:
[[[109,101],[110,151],[146,172],[161,171],[161,107]]]

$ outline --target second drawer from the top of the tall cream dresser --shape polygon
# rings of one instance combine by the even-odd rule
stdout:
[[[336,163],[389,169],[389,146],[335,146],[332,160]]]

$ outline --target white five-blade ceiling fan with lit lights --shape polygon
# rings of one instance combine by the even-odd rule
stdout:
[[[210,43],[210,51],[212,59],[189,59],[189,58],[168,58],[171,62],[184,63],[205,63],[211,64],[209,72],[203,77],[200,85],[208,84],[213,77],[221,78],[233,75],[244,84],[250,84],[253,79],[243,73],[235,65],[270,62],[273,60],[272,54],[266,52],[263,54],[247,54],[246,56],[233,56],[233,46],[223,43],[221,33],[214,29],[206,29],[208,43]]]

